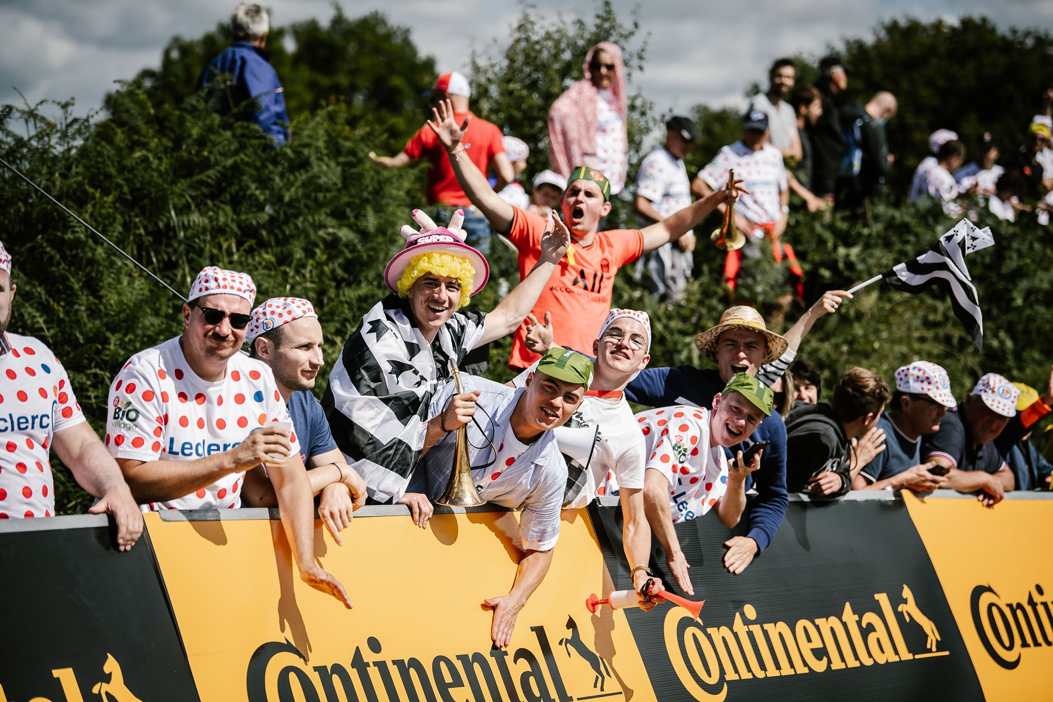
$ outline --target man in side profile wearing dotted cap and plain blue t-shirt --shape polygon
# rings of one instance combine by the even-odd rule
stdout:
[[[311,393],[324,362],[322,325],[314,305],[302,298],[271,298],[253,309],[245,342],[249,355],[274,373],[299,437],[300,460],[307,466],[311,493],[320,496],[318,516],[342,546],[340,531],[347,527],[354,510],[365,504],[365,482],[344,462],[325,413]],[[260,470],[245,475],[241,499],[250,506],[277,506],[274,485]]]

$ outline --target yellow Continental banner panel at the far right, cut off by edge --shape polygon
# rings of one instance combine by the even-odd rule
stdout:
[[[1053,698],[1053,504],[903,499],[987,700]]]

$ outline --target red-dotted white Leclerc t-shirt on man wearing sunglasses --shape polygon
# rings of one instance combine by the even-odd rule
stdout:
[[[235,354],[226,362],[226,376],[208,382],[191,369],[179,339],[139,352],[114,379],[105,439],[114,458],[193,461],[230,450],[272,422],[292,422],[274,374],[262,361]],[[295,432],[290,443],[292,455],[299,456]],[[244,476],[232,473],[192,495],[142,507],[239,507]]]

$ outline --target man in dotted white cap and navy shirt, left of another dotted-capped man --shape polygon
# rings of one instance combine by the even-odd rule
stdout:
[[[942,487],[947,479],[932,472],[936,464],[921,462],[921,437],[938,432],[948,408],[956,405],[942,367],[914,361],[897,368],[892,403],[877,420],[885,450],[852,478],[852,489],[928,493]]]

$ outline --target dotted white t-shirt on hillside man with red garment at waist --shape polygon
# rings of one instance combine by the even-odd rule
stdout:
[[[721,148],[716,158],[698,172],[698,177],[718,190],[728,184],[731,168],[735,169],[735,178],[744,181],[742,187],[750,190],[750,195],[739,196],[735,212],[754,224],[779,221],[782,216],[779,194],[788,187],[782,153],[767,143],[759,152],[754,152],[737,141]]]

